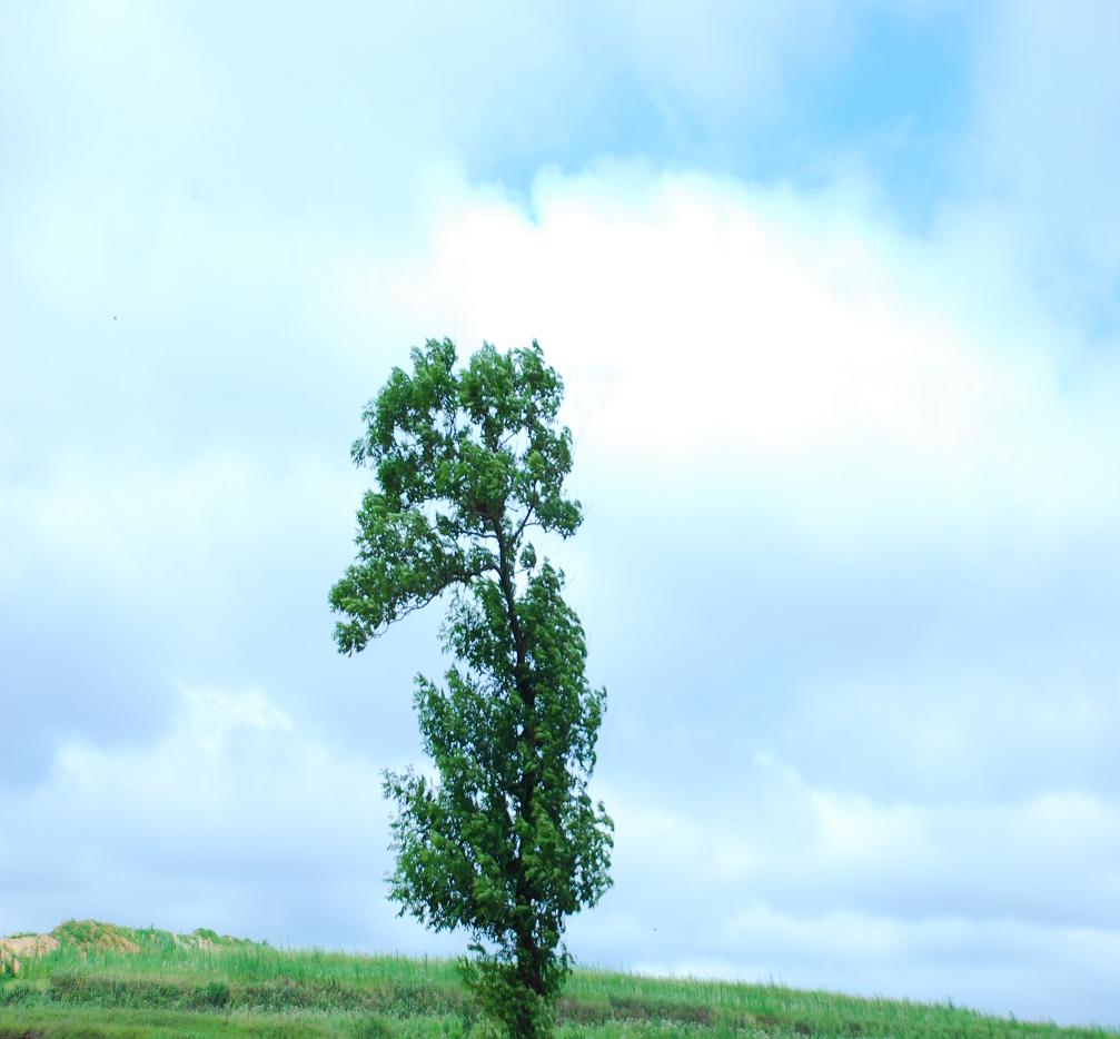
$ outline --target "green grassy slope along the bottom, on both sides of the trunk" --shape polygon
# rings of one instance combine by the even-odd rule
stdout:
[[[360,956],[198,930],[68,921],[57,948],[0,975],[0,1039],[147,1036],[492,1036],[444,960]],[[561,1037],[1111,1037],[941,1004],[865,1000],[780,985],[577,971]]]

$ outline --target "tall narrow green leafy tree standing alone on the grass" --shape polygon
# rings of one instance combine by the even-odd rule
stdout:
[[[566,918],[609,887],[613,825],[587,781],[605,690],[562,571],[533,532],[570,537],[571,433],[560,376],[540,346],[486,344],[456,369],[449,339],[411,353],[363,412],[352,456],[376,472],[357,514],[357,554],[330,592],[339,652],[449,592],[440,687],[416,678],[436,778],[386,773],[396,804],[390,898],[436,930],[465,928],[464,977],[515,1037],[545,1035],[570,958]]]

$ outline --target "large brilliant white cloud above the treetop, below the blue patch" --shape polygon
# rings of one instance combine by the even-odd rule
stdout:
[[[1120,502],[1116,421],[1055,359],[1058,330],[1021,293],[954,312],[943,282],[982,271],[848,191],[607,166],[540,176],[529,212],[487,188],[433,203],[422,254],[366,273],[375,327],[538,337],[600,466],[765,486],[816,536],[849,520],[846,541],[1012,517],[1045,534]],[[998,328],[1016,307],[1039,319],[1027,341]]]

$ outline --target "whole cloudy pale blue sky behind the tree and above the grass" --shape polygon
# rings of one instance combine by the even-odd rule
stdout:
[[[394,916],[361,410],[536,338],[581,963],[1120,1027],[1120,7],[0,0],[0,934]]]

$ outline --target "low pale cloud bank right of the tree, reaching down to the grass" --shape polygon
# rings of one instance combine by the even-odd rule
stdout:
[[[618,893],[572,928],[596,962],[640,949],[647,973],[1116,1017],[1120,902],[1104,864],[1120,813],[1098,797],[889,803],[759,756],[692,813],[636,790],[609,803]]]

